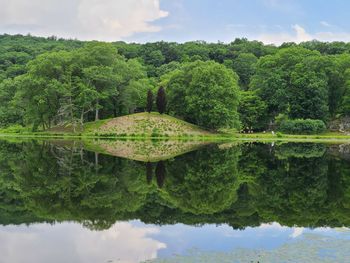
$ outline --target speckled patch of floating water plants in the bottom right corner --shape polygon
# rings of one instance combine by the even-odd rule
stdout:
[[[276,249],[237,248],[230,252],[207,252],[192,249],[187,255],[177,255],[151,262],[294,262],[334,263],[350,260],[350,240],[323,235],[307,234],[302,239],[284,244]]]

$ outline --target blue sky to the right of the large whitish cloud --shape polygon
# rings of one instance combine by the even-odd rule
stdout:
[[[350,39],[346,0],[161,0],[160,7],[169,13],[155,22],[162,30],[136,34],[130,40]]]

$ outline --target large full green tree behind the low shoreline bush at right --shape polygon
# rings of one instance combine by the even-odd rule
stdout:
[[[251,89],[266,102],[270,120],[280,113],[326,120],[330,112],[327,71],[328,60],[319,52],[284,48],[258,61]]]

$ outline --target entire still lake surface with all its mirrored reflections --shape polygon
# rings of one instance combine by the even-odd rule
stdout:
[[[350,145],[0,141],[0,262],[350,262]]]

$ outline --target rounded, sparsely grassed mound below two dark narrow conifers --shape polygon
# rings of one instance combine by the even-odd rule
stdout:
[[[136,113],[114,119],[87,123],[85,132],[98,134],[116,134],[120,136],[205,136],[211,133],[196,125],[179,120],[166,114]]]

